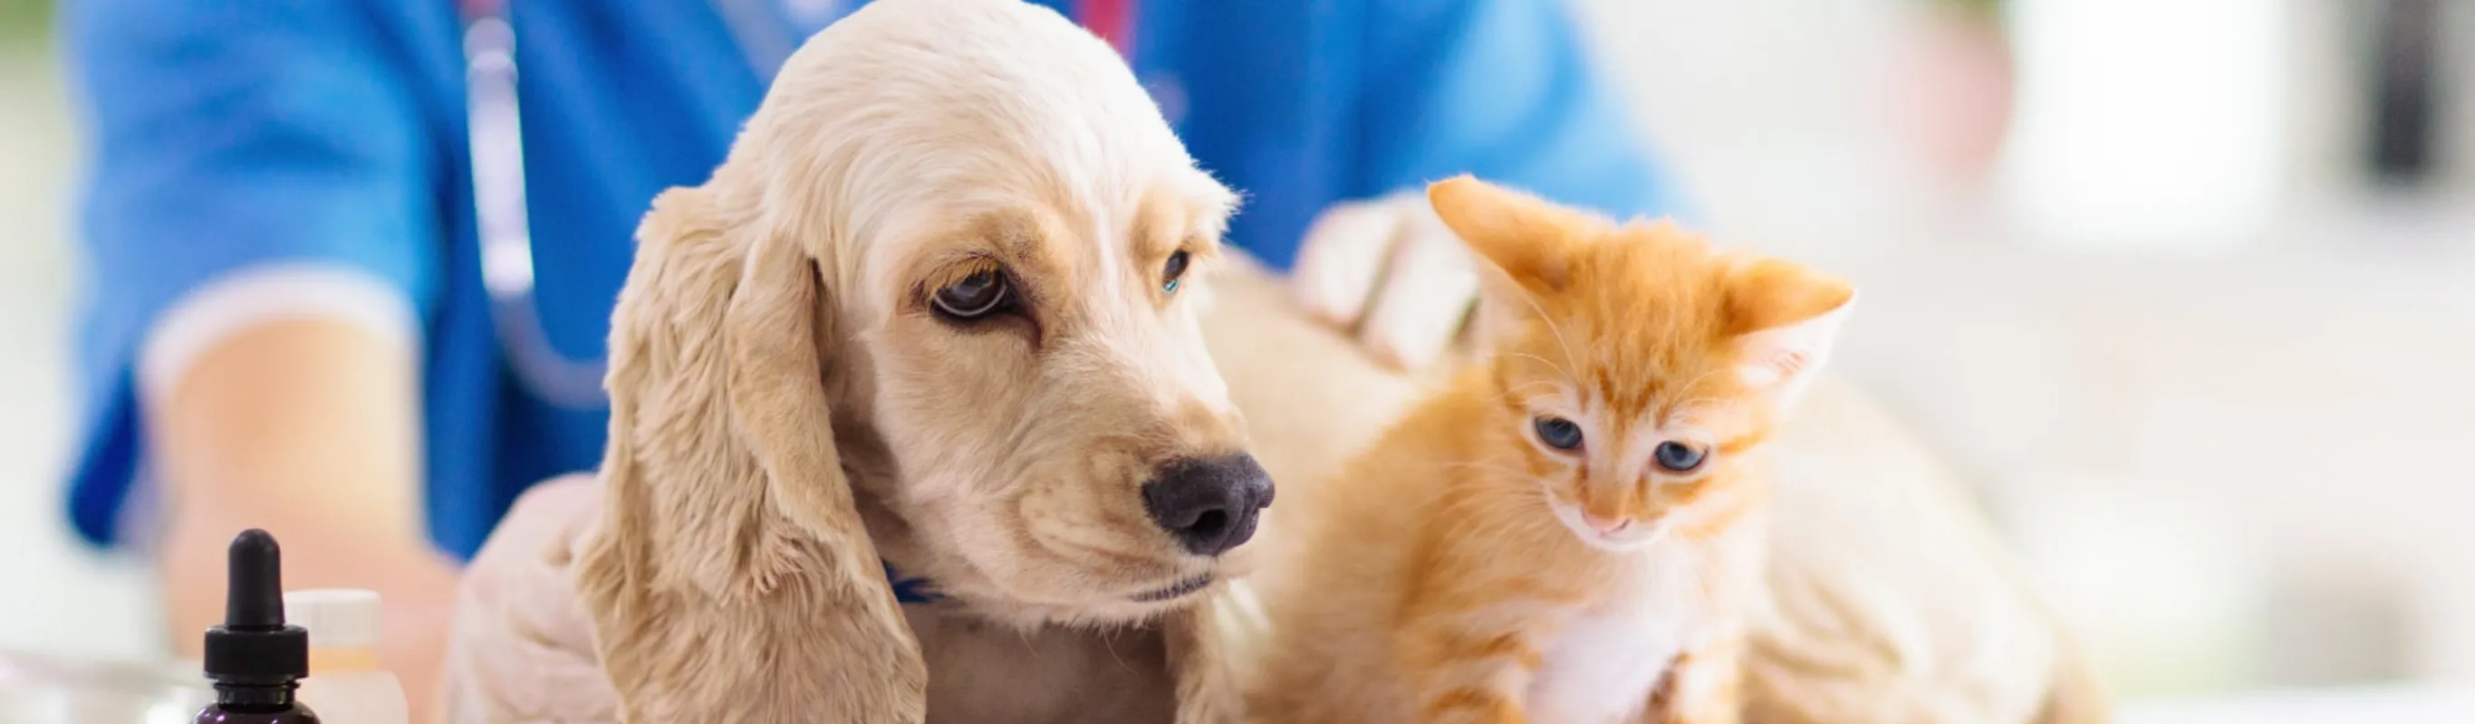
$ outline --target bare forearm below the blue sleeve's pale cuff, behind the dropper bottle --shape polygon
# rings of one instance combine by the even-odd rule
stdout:
[[[282,319],[225,336],[151,400],[173,499],[158,578],[183,657],[223,620],[223,544],[267,529],[285,588],[379,591],[381,662],[426,722],[458,573],[421,529],[416,368],[369,326]]]

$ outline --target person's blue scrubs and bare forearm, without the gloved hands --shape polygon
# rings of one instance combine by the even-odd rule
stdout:
[[[153,551],[176,640],[223,541],[287,586],[379,588],[418,692],[470,556],[601,457],[596,403],[507,371],[475,242],[450,0],[64,5],[92,136],[84,452],[69,516]],[[700,183],[834,0],[512,2],[540,329],[596,361],[663,188]],[[1339,203],[1478,173],[1609,213],[1668,198],[1557,0],[1054,0],[1119,44],[1287,269]],[[423,699],[423,697],[416,697]]]

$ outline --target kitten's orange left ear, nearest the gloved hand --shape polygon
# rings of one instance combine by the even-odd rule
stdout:
[[[1428,185],[1426,200],[1470,252],[1530,292],[1562,289],[1572,247],[1601,225],[1586,213],[1470,175]]]

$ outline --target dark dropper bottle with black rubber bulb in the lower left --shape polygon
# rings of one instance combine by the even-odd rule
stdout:
[[[319,724],[295,699],[309,675],[309,633],[285,625],[282,551],[260,529],[240,531],[225,561],[223,625],[205,630],[215,704],[198,724]]]

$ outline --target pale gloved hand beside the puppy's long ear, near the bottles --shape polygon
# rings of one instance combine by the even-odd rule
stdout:
[[[601,519],[601,482],[567,474],[515,499],[465,566],[441,722],[619,722],[572,561]]]

